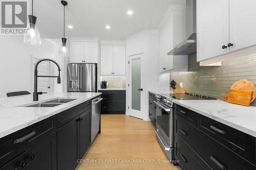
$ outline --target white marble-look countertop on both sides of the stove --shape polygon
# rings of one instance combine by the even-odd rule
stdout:
[[[154,90],[148,91],[155,94],[168,93]],[[172,93],[172,91],[169,93]],[[172,101],[222,124],[256,137],[255,106],[246,107],[221,100],[177,100],[172,98]]]

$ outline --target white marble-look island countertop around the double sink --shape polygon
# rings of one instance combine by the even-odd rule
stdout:
[[[0,98],[0,138],[91,100],[100,94],[96,92],[49,93],[39,95],[38,102],[33,102],[33,94]],[[77,100],[56,107],[19,107],[56,98]]]

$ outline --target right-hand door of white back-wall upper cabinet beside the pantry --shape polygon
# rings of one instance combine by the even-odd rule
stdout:
[[[113,73],[125,75],[125,45],[113,46]]]

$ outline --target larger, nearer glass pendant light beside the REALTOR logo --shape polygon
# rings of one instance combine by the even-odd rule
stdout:
[[[24,34],[24,42],[30,45],[41,45],[41,37],[35,25],[36,17],[33,15],[33,0],[32,0],[32,15],[28,15],[29,24]]]

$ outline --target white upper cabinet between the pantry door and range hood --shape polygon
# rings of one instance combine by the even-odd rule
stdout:
[[[169,56],[169,51],[185,39],[184,9],[173,9],[159,29],[159,71],[187,70],[187,55]]]

